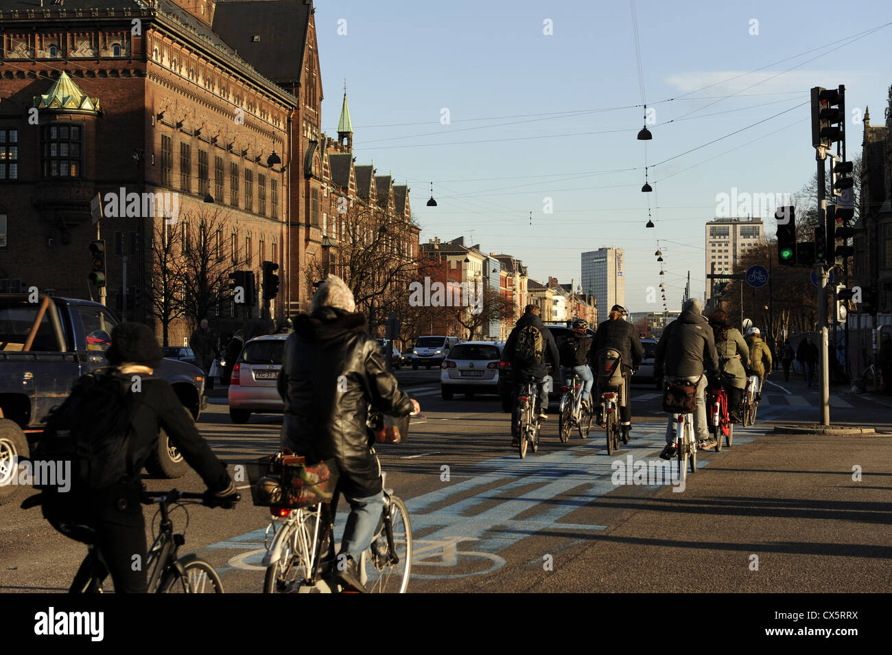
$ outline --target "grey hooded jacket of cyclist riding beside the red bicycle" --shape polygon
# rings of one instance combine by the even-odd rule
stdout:
[[[712,377],[719,376],[713,328],[702,314],[682,311],[665,327],[657,342],[654,369],[665,377],[700,376],[704,369]]]

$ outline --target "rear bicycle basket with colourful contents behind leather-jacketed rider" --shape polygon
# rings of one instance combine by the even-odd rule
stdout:
[[[310,507],[335,495],[338,471],[335,460],[308,464],[290,451],[277,452],[245,466],[251,498],[258,507]]]

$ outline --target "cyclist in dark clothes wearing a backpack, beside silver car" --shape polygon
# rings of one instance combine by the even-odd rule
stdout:
[[[514,404],[511,408],[511,445],[520,444],[520,426],[517,425],[517,396],[520,395],[526,377],[536,379],[536,411],[540,420],[548,420],[549,394],[546,391],[545,377],[548,375],[546,362],[552,370],[558,371],[560,355],[555,337],[539,318],[539,306],[529,304],[524,307],[524,315],[517,319],[516,326],[508,335],[502,351],[505,361],[511,363],[511,377],[514,382],[511,395]]]

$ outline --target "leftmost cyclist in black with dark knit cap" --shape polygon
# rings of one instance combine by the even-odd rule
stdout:
[[[120,378],[121,386],[128,389],[126,443],[128,470],[133,475],[101,489],[81,486],[68,493],[44,490],[44,517],[63,535],[95,545],[111,573],[116,593],[145,593],[145,520],[138,474],[149,454],[158,448],[159,428],[164,428],[170,442],[202,477],[211,504],[231,508],[238,494],[226,464],[217,459],[211,446],[198,434],[192,416],[179,402],[173,387],[166,380],[153,377],[153,369],[163,357],[153,331],[141,323],[120,323],[111,330],[111,347],[105,354],[112,368],[97,373],[107,372]],[[133,386],[134,376],[139,376],[138,392]],[[75,393],[78,384],[81,381],[76,383]],[[80,420],[90,419],[84,416]],[[135,562],[141,565],[134,567]]]

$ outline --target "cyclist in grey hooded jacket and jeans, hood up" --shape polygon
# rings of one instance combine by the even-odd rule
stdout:
[[[681,314],[663,330],[654,354],[655,375],[663,374],[665,382],[687,380],[698,382],[697,404],[694,410],[694,426],[698,448],[709,447],[709,427],[706,425],[706,374],[719,377],[718,354],[715,352],[713,329],[703,318],[703,303],[691,298],[681,305]],[[677,449],[673,444],[675,416],[669,415],[666,425],[666,447],[660,453],[664,460],[671,460]]]

